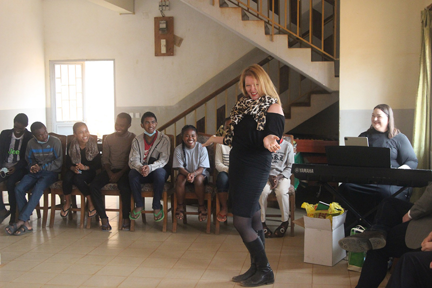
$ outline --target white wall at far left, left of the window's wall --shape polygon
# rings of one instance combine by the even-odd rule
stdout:
[[[42,15],[42,0],[0,0],[0,130],[46,120]]]

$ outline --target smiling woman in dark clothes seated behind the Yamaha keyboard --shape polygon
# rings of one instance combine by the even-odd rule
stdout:
[[[417,167],[417,157],[408,138],[394,126],[391,107],[387,104],[375,106],[371,122],[369,129],[362,132],[359,137],[367,137],[371,147],[390,148],[392,168],[415,169]],[[339,186],[339,190],[360,214],[369,211],[383,198],[397,192],[399,188],[401,187],[393,185],[351,183],[343,183]],[[406,189],[396,197],[409,201],[410,190]],[[373,214],[370,219],[373,219]],[[351,223],[353,220],[353,215],[348,213],[346,223]]]

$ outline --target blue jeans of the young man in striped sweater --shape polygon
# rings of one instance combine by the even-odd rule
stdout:
[[[15,187],[16,204],[18,205],[18,219],[27,221],[34,208],[39,203],[43,190],[48,188],[52,183],[57,181],[58,172],[40,170],[37,173],[26,174],[19,184]],[[25,193],[33,187],[30,198],[25,198]]]

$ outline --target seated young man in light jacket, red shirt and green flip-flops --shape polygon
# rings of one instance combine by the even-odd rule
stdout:
[[[130,219],[137,219],[144,209],[141,197],[141,183],[153,183],[153,217],[160,221],[165,216],[160,206],[163,185],[168,179],[168,165],[171,142],[169,137],[156,130],[157,119],[152,112],[145,112],[141,117],[144,129],[132,141],[129,155],[129,184],[136,207],[130,212]]]

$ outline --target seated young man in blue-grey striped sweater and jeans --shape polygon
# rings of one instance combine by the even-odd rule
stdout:
[[[30,215],[40,197],[49,185],[57,181],[61,170],[62,148],[58,138],[48,135],[46,127],[41,122],[34,122],[30,126],[34,138],[27,143],[25,159],[30,173],[26,174],[15,187],[15,197],[18,206],[18,221],[8,225],[5,230],[9,235],[22,235],[31,232]],[[25,194],[32,189],[30,198]]]

